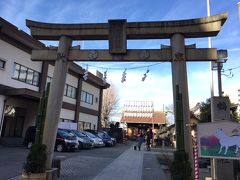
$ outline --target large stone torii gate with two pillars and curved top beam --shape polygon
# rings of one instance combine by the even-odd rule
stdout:
[[[51,168],[55,137],[58,128],[68,61],[169,61],[172,64],[174,114],[176,117],[176,87],[182,94],[185,150],[193,167],[190,127],[190,110],[186,61],[215,61],[215,48],[186,46],[185,38],[216,36],[227,19],[227,13],[207,18],[127,22],[109,20],[98,24],[52,24],[26,20],[31,35],[38,40],[57,40],[56,49],[33,50],[33,61],[55,61],[53,81],[50,87],[43,144],[47,145],[46,167]],[[127,39],[170,39],[171,46],[160,49],[127,49]],[[109,50],[81,50],[72,48],[73,40],[108,40]],[[178,129],[178,127],[176,127]],[[181,129],[182,131],[182,129]],[[178,140],[177,140],[178,141]]]

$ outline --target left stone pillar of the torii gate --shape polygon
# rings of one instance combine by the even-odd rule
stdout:
[[[47,169],[51,169],[52,164],[59,116],[62,107],[64,86],[68,70],[67,58],[69,50],[71,48],[71,44],[72,40],[69,37],[62,36],[59,40],[59,46],[57,50],[58,56],[57,60],[55,61],[55,68],[49,92],[46,120],[43,133],[43,144],[46,144],[47,146]]]

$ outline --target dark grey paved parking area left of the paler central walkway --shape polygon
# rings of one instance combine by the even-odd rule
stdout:
[[[55,152],[54,155],[63,156],[65,163],[69,164],[69,166],[65,165],[65,168],[62,169],[62,171],[71,171],[71,168],[75,167],[71,165],[71,159],[80,156],[81,161],[79,161],[78,164],[79,171],[84,169],[82,174],[84,176],[89,174],[89,176],[92,177],[99,173],[130,146],[131,142],[127,145],[117,144],[115,147],[93,148],[76,152]],[[28,151],[29,150],[24,147],[0,146],[0,180],[11,179],[22,173],[23,164]]]

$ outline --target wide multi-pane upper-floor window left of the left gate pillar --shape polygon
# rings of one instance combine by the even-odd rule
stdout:
[[[40,73],[20,64],[14,63],[12,78],[27,84],[38,86]]]

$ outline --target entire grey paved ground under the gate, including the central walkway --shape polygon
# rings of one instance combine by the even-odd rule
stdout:
[[[133,142],[115,147],[94,148],[76,152],[55,152],[62,157],[60,180],[167,180],[168,173],[157,157],[165,150],[149,152],[133,149]],[[20,180],[28,150],[0,146],[0,180]],[[172,154],[172,151],[170,151]]]

